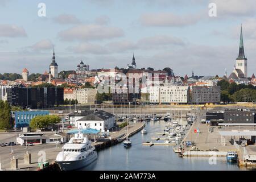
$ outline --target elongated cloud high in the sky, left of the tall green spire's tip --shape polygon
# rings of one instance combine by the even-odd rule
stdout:
[[[197,23],[201,19],[199,14],[175,15],[173,13],[147,13],[139,21],[144,26],[183,27]]]

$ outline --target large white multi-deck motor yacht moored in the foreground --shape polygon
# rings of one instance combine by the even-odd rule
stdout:
[[[88,166],[97,160],[98,155],[90,140],[82,133],[75,134],[68,143],[64,144],[55,162],[59,164],[61,171],[71,171]]]

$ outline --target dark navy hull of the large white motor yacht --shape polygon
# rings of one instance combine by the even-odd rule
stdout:
[[[88,166],[90,163],[94,162],[95,160],[97,160],[98,155],[96,151],[93,151],[93,154],[86,157],[85,159],[82,160],[75,160],[75,161],[55,161],[61,171],[73,171],[76,169],[80,169],[83,167]]]

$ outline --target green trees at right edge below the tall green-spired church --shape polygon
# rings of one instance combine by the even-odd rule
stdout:
[[[256,101],[256,86],[231,84],[226,80],[218,81],[221,87],[221,101],[223,102],[254,102]]]

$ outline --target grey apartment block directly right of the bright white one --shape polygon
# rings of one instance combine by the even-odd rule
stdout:
[[[192,86],[191,102],[193,104],[216,104],[220,101],[220,86]]]

